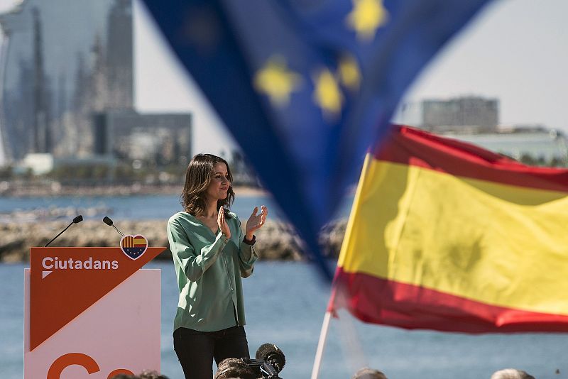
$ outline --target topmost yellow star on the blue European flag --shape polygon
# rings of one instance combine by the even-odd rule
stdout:
[[[360,40],[372,40],[377,29],[388,21],[383,0],[353,0],[353,10],[347,15],[347,24]]]

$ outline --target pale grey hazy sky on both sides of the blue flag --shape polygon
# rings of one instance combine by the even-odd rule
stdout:
[[[0,0],[1,10],[12,0]],[[191,111],[193,151],[227,152],[222,130],[192,80],[173,57],[139,1],[134,1],[135,99],[138,111]],[[403,101],[474,94],[500,101],[502,124],[541,123],[568,130],[568,3],[493,1],[427,65]]]

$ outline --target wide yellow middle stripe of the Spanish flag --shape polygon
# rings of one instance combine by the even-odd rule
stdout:
[[[367,155],[338,266],[568,315],[568,196]]]

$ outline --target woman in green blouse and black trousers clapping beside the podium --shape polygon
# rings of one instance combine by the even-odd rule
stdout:
[[[168,221],[180,300],[174,321],[174,349],[185,378],[211,379],[213,358],[249,358],[244,331],[241,277],[253,273],[258,258],[254,231],[268,209],[258,207],[246,221],[229,212],[234,199],[229,165],[211,154],[198,154],[185,175],[183,212]]]

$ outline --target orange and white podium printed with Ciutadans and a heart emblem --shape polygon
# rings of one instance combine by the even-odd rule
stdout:
[[[24,378],[160,370],[160,270],[141,267],[165,248],[126,237],[116,248],[31,248]]]

